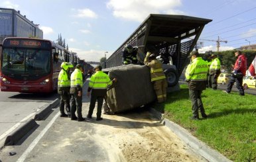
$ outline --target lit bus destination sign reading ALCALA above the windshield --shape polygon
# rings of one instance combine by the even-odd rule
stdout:
[[[5,47],[21,48],[51,48],[51,43],[44,40],[7,39],[3,42]]]

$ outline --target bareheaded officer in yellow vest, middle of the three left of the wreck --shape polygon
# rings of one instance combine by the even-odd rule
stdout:
[[[78,120],[78,122],[84,121],[85,118],[82,117],[82,65],[76,65],[76,69],[71,74],[70,80],[71,120]],[[78,117],[76,117],[75,112],[78,114]]]

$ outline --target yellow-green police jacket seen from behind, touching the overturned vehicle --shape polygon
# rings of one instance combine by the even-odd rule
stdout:
[[[92,89],[107,89],[107,86],[111,84],[112,81],[107,74],[103,73],[103,71],[97,71],[92,75],[89,87]]]

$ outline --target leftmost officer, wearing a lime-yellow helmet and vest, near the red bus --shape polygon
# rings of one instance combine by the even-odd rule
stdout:
[[[73,67],[71,63],[62,62],[62,68],[58,74],[58,94],[60,94],[60,117],[70,117],[70,74],[69,69]],[[64,106],[66,112],[64,112]]]

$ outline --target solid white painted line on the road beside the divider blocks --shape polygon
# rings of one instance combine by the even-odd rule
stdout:
[[[56,118],[60,116],[60,112],[58,112],[52,120],[47,124],[47,126],[42,130],[42,132],[34,139],[34,141],[29,145],[29,147],[26,149],[26,151],[19,157],[17,162],[23,162],[29,155],[29,153],[32,151],[32,149],[36,146],[36,144],[40,141],[40,139],[44,136],[44,134],[47,132],[47,130],[52,126],[52,124],[55,122]]]

